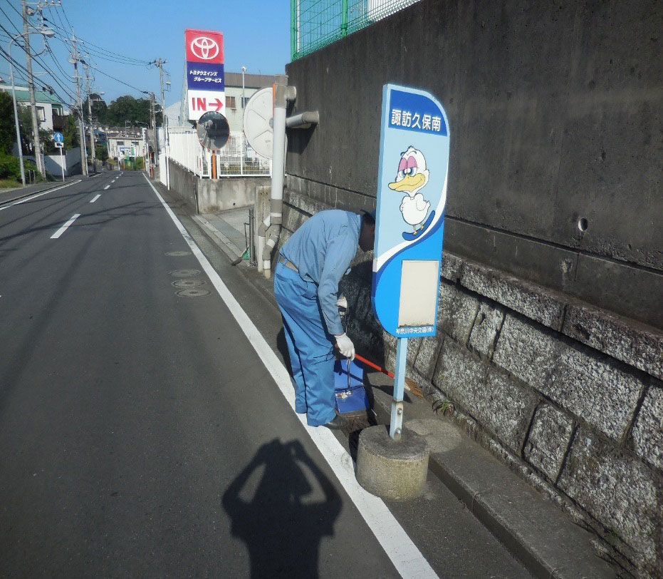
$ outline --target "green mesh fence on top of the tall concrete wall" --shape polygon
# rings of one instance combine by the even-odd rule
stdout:
[[[292,59],[306,56],[417,1],[291,0]]]

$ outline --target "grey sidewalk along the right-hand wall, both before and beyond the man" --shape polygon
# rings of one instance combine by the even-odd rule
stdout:
[[[194,217],[212,242],[231,260],[244,251],[244,222],[249,209]],[[244,277],[276,307],[271,283],[244,261]],[[375,397],[377,424],[388,424],[393,381],[367,373]],[[430,401],[406,394],[404,427],[423,436],[431,450],[429,470],[439,478],[470,513],[536,578],[616,578],[617,570],[595,553],[595,536],[575,525],[553,503],[538,493],[506,464],[498,461],[462,431],[434,412]],[[346,444],[356,446],[358,429],[351,423]],[[343,435],[340,435],[343,436]],[[624,575],[625,576],[625,575]]]

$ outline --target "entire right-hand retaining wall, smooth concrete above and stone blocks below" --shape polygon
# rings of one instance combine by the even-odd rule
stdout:
[[[288,135],[281,239],[319,210],[375,207],[384,83],[436,94],[439,334],[411,339],[408,375],[648,578],[663,576],[662,16],[653,0],[422,0],[291,63],[293,112],[320,125]],[[344,280],[348,333],[393,367],[370,260]]]

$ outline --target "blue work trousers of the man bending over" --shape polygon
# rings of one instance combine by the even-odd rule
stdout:
[[[334,353],[318,302],[318,286],[279,263],[274,296],[283,316],[283,329],[295,381],[295,411],[306,412],[309,426],[333,420]]]

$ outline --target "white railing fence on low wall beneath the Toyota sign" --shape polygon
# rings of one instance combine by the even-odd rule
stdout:
[[[212,153],[202,147],[196,131],[169,127],[169,158],[199,177],[212,176]],[[271,159],[261,157],[246,141],[244,133],[233,131],[226,146],[215,155],[217,177],[259,177],[271,175]]]

